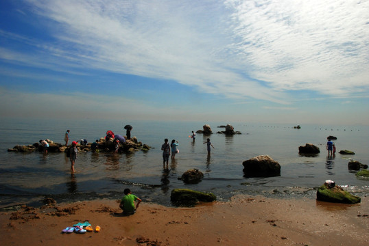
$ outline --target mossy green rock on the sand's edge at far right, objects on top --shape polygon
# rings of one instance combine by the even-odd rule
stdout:
[[[342,187],[335,185],[329,188],[328,184],[324,183],[316,192],[316,199],[323,202],[336,202],[344,204],[356,204],[361,202],[361,198],[344,191]]]

